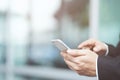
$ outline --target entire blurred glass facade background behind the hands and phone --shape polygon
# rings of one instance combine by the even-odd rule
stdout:
[[[0,0],[0,80],[97,80],[71,71],[52,39],[117,45],[120,0]]]

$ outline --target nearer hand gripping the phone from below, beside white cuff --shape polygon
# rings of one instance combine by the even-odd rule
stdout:
[[[68,67],[80,75],[96,76],[98,55],[90,50],[68,50],[61,52]]]

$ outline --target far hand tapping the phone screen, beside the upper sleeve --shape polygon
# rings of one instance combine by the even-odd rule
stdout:
[[[89,40],[81,43],[78,46],[78,48],[90,49],[90,50],[94,51],[95,53],[97,53],[98,55],[105,55],[105,53],[107,52],[107,48],[106,48],[105,44],[98,40],[95,40],[95,39],[89,39]]]

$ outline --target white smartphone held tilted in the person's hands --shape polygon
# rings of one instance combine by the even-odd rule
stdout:
[[[67,51],[70,49],[62,40],[60,39],[54,39],[52,40],[52,43],[62,52]]]

